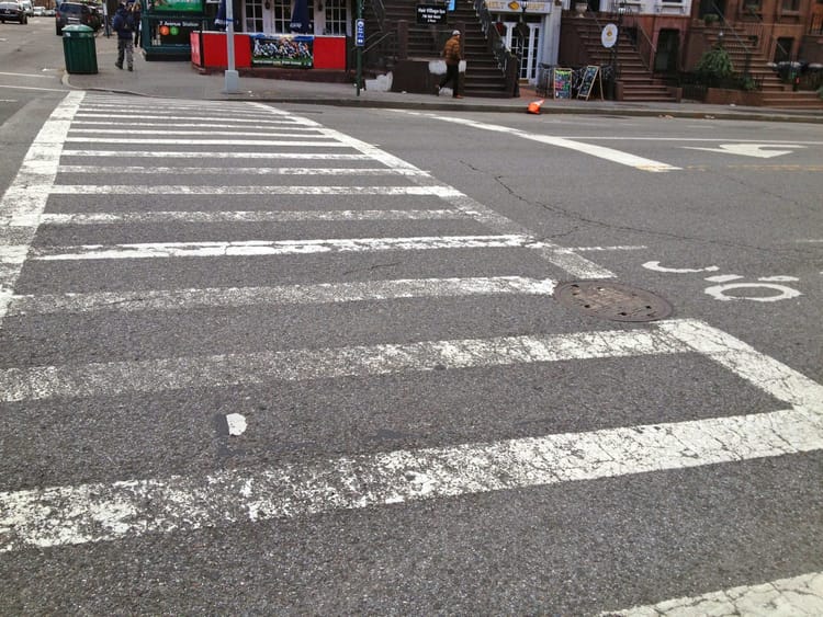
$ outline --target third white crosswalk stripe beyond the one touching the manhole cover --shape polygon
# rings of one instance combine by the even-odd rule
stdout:
[[[144,184],[55,184],[52,195],[460,195],[448,186],[284,186],[200,185],[147,186]]]

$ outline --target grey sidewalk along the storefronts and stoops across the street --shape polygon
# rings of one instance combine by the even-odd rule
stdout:
[[[116,39],[97,37],[98,73],[66,73],[64,83],[81,90],[133,93],[144,96],[195,99],[206,101],[259,101],[267,103],[312,103],[361,107],[402,107],[421,111],[511,112],[526,113],[531,101],[540,100],[533,90],[522,88],[519,99],[467,96],[454,100],[435,94],[412,94],[362,90],[353,83],[325,83],[240,77],[239,92],[227,94],[222,73],[200,75],[188,61],[146,61],[135,50],[135,70],[127,72],[114,66]],[[704,105],[701,103],[644,103],[600,100],[546,99],[543,114],[602,114],[622,116],[691,117],[708,119],[749,119],[771,122],[808,122],[823,124],[819,112]]]

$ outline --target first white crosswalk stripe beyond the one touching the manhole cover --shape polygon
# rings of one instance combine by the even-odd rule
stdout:
[[[40,247],[31,259],[122,260],[148,258],[224,258],[294,255],[371,251],[427,251],[436,249],[516,249],[529,242],[522,236],[433,236],[409,238],[342,238],[331,240],[250,240],[247,242],[147,242]]]

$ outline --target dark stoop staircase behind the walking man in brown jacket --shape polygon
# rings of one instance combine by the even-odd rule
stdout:
[[[466,96],[487,96],[495,99],[511,98],[507,91],[506,76],[497,60],[488,50],[486,36],[483,33],[472,0],[458,0],[455,10],[449,12],[448,24],[418,25],[416,23],[416,2],[409,0],[382,0],[384,9],[383,28],[375,14],[373,4],[364,2],[367,32],[373,36],[392,37],[396,32],[397,21],[408,22],[408,57],[419,60],[437,60],[443,44],[458,24],[463,24],[462,44],[466,59],[466,71],[463,91]],[[381,59],[383,70],[392,70],[392,59]]]

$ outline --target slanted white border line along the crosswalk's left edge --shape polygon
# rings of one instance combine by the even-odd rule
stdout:
[[[29,247],[37,231],[37,220],[46,206],[48,190],[54,184],[60,148],[70,119],[82,101],[82,92],[70,92],[55,107],[34,138],[11,185],[0,198],[0,229],[20,218],[31,221],[14,229],[14,244],[0,233],[0,325],[23,266]]]

